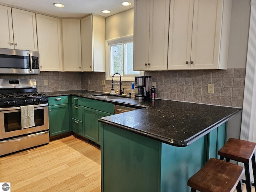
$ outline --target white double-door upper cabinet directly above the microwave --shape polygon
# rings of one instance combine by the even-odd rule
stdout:
[[[0,47],[37,51],[36,14],[0,5]]]

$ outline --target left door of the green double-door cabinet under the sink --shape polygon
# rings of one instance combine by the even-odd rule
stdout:
[[[96,129],[95,109],[82,107],[84,137],[94,142],[98,140],[98,129]]]

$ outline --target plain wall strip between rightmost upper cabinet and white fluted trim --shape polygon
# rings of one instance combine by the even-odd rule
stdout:
[[[246,68],[250,7],[250,0],[233,0],[228,68]]]

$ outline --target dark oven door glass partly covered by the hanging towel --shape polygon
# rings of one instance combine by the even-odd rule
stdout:
[[[44,125],[44,109],[34,110],[35,127]],[[10,112],[4,114],[5,132],[21,129],[20,112]]]

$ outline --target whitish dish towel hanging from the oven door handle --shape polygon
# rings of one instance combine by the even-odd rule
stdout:
[[[33,105],[20,106],[20,116],[22,129],[35,126]]]

